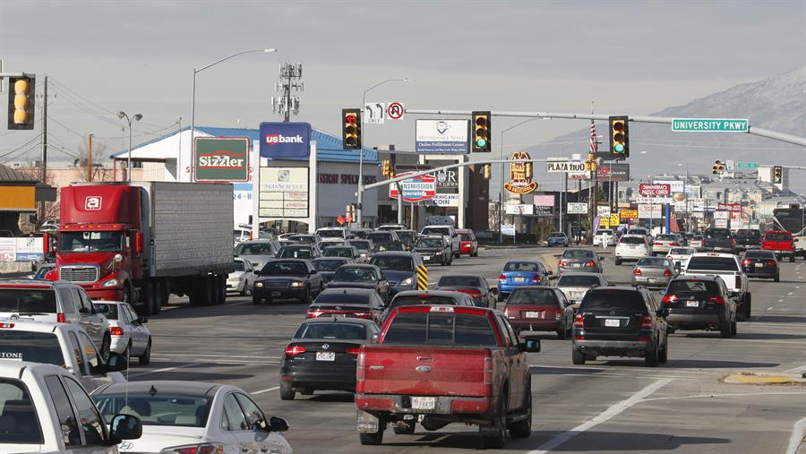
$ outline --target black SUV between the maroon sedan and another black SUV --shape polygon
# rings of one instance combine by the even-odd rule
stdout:
[[[574,317],[571,359],[585,364],[597,356],[643,357],[648,367],[669,357],[665,316],[645,287],[591,288]]]

